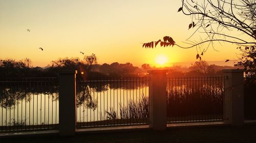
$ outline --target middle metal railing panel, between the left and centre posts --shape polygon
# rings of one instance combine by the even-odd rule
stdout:
[[[77,127],[148,124],[149,84],[150,77],[77,78]]]

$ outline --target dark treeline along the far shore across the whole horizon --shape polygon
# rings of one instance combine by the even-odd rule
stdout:
[[[61,70],[77,70],[77,77],[131,77],[146,76],[147,70],[156,69],[149,64],[143,64],[140,68],[131,63],[97,64],[95,54],[79,58],[64,58],[52,61],[45,68],[32,67],[31,60],[0,60],[0,77],[57,77]],[[167,76],[200,76],[222,75],[222,69],[232,69],[229,66],[208,65],[205,61],[195,62],[190,67],[165,67]],[[158,68],[159,69],[159,68]]]

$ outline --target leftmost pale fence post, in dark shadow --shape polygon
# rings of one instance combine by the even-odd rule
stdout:
[[[59,72],[59,135],[71,136],[76,132],[76,73],[73,70]]]

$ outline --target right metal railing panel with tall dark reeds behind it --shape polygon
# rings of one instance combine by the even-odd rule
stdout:
[[[167,77],[167,123],[222,121],[223,76]]]

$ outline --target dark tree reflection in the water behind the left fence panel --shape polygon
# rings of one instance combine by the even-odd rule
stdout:
[[[20,102],[30,102],[38,96],[58,100],[58,86],[55,78],[8,78],[0,81],[0,106],[14,108]]]

